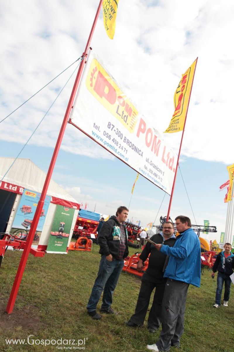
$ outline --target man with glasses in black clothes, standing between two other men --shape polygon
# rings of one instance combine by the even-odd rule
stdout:
[[[150,239],[155,243],[163,243],[164,245],[172,247],[176,240],[173,223],[170,221],[165,222],[163,224],[162,234],[157,233]],[[154,333],[161,324],[162,299],[165,283],[167,281],[167,279],[163,278],[163,267],[167,256],[158,252],[153,244],[147,242],[139,256],[140,259],[137,264],[137,270],[139,272],[142,271],[143,263],[148,256],[149,265],[142,276],[135,313],[131,316],[130,320],[126,322],[126,325],[131,327],[143,325],[149,307],[151,293],[153,289],[156,288],[147,323],[149,332]]]

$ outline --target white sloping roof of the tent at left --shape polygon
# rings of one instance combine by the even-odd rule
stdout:
[[[0,157],[0,177],[2,178],[14,158]],[[30,159],[16,159],[11,169],[7,172],[3,182],[13,183],[32,191],[41,192],[44,186],[46,173],[38,168]],[[69,193],[53,180],[50,181],[47,194],[53,197],[78,203]]]

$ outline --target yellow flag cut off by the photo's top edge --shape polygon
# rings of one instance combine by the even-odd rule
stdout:
[[[115,21],[118,10],[119,0],[103,0],[103,21],[106,34],[110,39],[115,35]]]

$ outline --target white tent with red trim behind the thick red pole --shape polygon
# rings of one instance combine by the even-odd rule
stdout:
[[[0,192],[2,192],[2,190],[5,191],[5,193],[2,192],[3,194],[0,197],[0,213],[1,211],[4,213],[7,226],[4,231],[8,233],[11,231],[24,189],[41,193],[46,178],[45,172],[39,169],[30,159],[17,159],[12,165],[13,161],[13,158],[0,157],[0,180],[4,177],[3,181],[0,182]],[[12,167],[10,168],[11,165]],[[9,171],[7,172],[8,169]],[[5,174],[6,176],[4,176]],[[17,195],[14,197],[13,203],[9,206],[8,195],[12,195],[12,192]],[[47,195],[51,196],[52,199],[41,232],[38,249],[46,250],[57,205],[63,205],[75,209],[67,245],[69,246],[78,216],[79,204],[76,199],[53,180],[50,181]],[[7,202],[8,207],[6,206]],[[6,208],[8,208],[7,213]],[[0,216],[0,221],[4,222],[2,216]]]

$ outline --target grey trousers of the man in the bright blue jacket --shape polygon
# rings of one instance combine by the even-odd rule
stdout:
[[[162,331],[156,342],[159,351],[180,346],[184,331],[184,313],[189,284],[168,279],[162,301]]]

